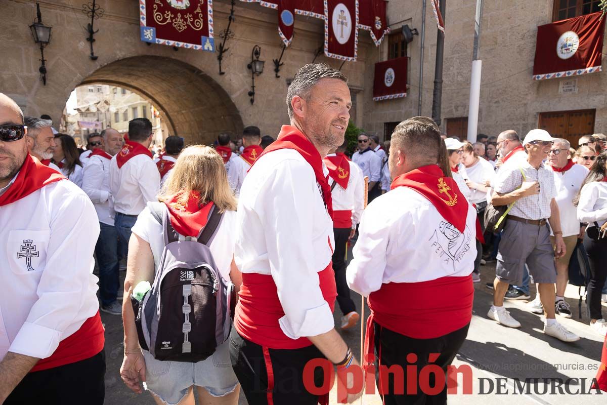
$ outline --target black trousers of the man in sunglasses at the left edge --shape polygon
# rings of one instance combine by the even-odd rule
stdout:
[[[106,355],[27,374],[4,405],[103,405]]]

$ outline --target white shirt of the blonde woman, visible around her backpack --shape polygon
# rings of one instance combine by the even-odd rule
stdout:
[[[150,244],[152,255],[154,256],[154,271],[158,270],[158,264],[164,250],[163,227],[152,216],[150,209],[146,208],[141,211],[137,222],[132,228],[132,232],[137,234],[141,239]],[[211,240],[209,250],[217,265],[217,271],[222,275],[223,279],[229,281],[229,271],[234,257],[234,245],[236,244],[236,211],[225,211],[222,216],[222,221]]]

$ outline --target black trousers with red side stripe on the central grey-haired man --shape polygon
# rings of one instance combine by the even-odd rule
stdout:
[[[236,328],[232,328],[229,342],[232,369],[249,405],[317,405],[318,396],[308,392],[303,378],[308,361],[325,358],[316,346],[268,349],[243,338]],[[316,367],[314,384],[322,387],[323,381],[324,372]]]

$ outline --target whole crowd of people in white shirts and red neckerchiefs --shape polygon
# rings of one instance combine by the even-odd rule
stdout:
[[[378,383],[380,364],[409,373],[432,353],[446,372],[491,260],[488,318],[520,327],[503,302],[531,299],[534,282],[529,309],[544,314],[544,333],[576,341],[556,315],[571,318],[565,289],[579,248],[589,327],[605,338],[605,135],[580,138],[577,151],[542,129],[470,143],[414,117],[384,145],[362,132],[348,155],[341,72],[307,64],[286,101],[290,124],[276,140],[247,126],[237,140],[186,147],[173,135],[156,150],[151,122],[135,118],[126,136],[90,134],[81,152],[0,94],[0,404],[103,404],[104,311],[123,317],[121,378],[158,404],[196,395],[235,405],[242,390],[251,405],[324,405],[304,369],[326,359],[351,386],[348,369],[360,364],[333,320],[337,301],[337,328],[361,321],[351,290],[368,297],[371,356],[360,360],[375,363]],[[495,211],[497,225],[487,220]],[[314,386],[323,378],[314,369]],[[446,386],[429,398],[388,381],[384,403],[446,403]],[[607,375],[599,383],[607,390]]]

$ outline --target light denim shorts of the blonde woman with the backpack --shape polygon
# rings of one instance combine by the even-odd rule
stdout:
[[[148,390],[169,405],[181,401],[191,386],[203,387],[212,396],[228,395],[238,385],[228,345],[229,341],[224,342],[211,357],[197,363],[160,361],[141,350],[146,361]]]

